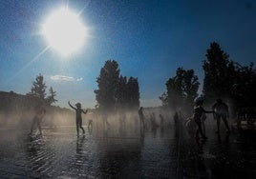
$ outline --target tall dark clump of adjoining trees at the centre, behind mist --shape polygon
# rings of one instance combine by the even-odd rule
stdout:
[[[120,75],[117,61],[108,60],[96,78],[98,89],[95,90],[97,108],[102,110],[138,109],[138,78]]]

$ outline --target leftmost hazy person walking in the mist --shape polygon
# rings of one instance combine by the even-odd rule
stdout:
[[[35,107],[35,115],[32,118],[32,128],[31,128],[30,135],[32,135],[32,130],[36,125],[36,127],[39,129],[39,135],[41,137],[43,136],[42,129],[41,129],[41,122],[43,117],[45,116],[45,113],[46,113],[46,109],[43,104],[39,104]]]

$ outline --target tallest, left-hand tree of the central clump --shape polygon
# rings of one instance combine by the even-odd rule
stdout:
[[[117,61],[108,60],[96,78],[98,89],[95,90],[99,109],[113,110],[117,101],[117,85],[119,81]]]

